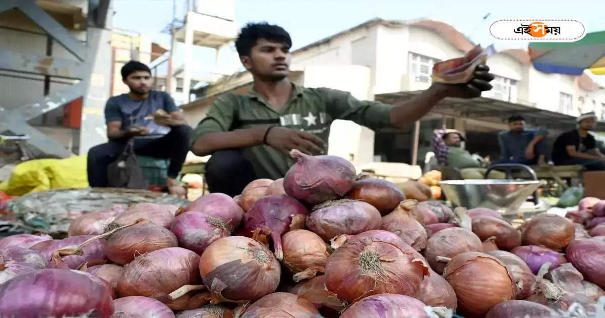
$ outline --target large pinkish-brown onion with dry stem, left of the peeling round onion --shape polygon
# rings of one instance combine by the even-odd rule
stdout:
[[[120,296],[145,296],[160,300],[172,310],[198,308],[207,302],[202,294],[185,294],[172,300],[168,294],[183,285],[195,285],[200,257],[180,247],[162,248],[130,262],[118,281]]]

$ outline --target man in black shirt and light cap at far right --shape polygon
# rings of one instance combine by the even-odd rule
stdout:
[[[605,156],[597,141],[588,132],[597,126],[595,113],[582,114],[576,119],[578,128],[561,134],[552,147],[555,165],[582,165],[586,170],[605,170]]]

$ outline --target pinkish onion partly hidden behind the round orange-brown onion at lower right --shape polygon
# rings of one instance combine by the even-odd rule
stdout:
[[[454,257],[468,251],[482,251],[483,245],[477,235],[464,228],[446,228],[430,237],[424,257],[434,271],[443,273],[445,263],[439,262],[437,256]]]

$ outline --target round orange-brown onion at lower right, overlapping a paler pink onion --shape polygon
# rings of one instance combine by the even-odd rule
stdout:
[[[454,256],[443,276],[456,291],[458,310],[465,317],[483,317],[502,301],[515,299],[515,282],[504,263],[479,252]]]

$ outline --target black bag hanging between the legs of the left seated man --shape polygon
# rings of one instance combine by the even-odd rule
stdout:
[[[107,167],[107,185],[112,188],[129,189],[149,187],[134,154],[134,139],[128,141],[123,153]]]

